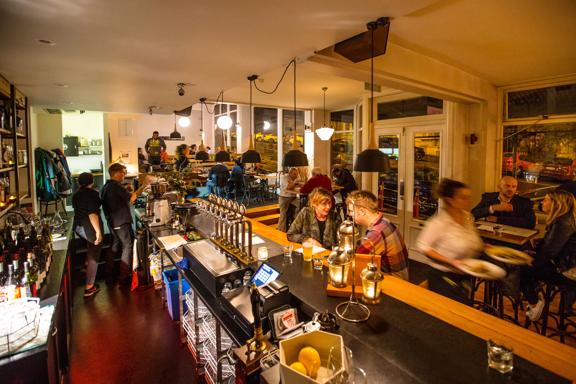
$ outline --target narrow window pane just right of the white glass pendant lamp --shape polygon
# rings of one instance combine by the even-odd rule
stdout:
[[[330,112],[334,135],[330,143],[330,164],[352,169],[354,157],[354,110]]]

